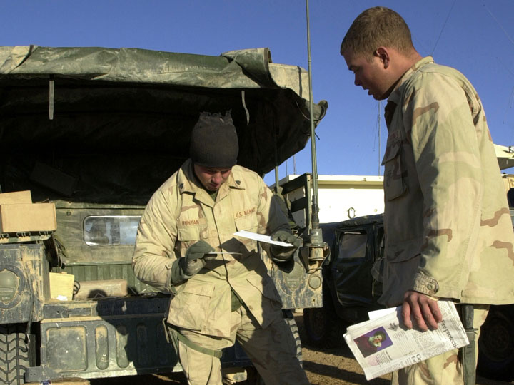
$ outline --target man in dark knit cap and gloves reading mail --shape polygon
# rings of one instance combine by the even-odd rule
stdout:
[[[233,233],[292,243],[268,247],[277,263],[301,241],[263,179],[236,165],[237,155],[230,115],[201,114],[191,159],[153,194],[141,217],[133,270],[173,293],[167,327],[189,384],[221,384],[221,349],[236,339],[266,384],[308,384],[257,242]]]

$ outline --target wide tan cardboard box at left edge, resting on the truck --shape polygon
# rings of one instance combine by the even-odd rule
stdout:
[[[0,232],[55,231],[54,203],[0,205]]]

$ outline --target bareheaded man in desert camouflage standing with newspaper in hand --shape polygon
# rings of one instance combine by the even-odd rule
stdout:
[[[363,11],[341,55],[356,86],[388,98],[380,300],[401,304],[405,325],[421,330],[437,328],[438,298],[473,304],[478,341],[489,305],[514,302],[513,229],[482,103],[460,72],[415,51],[390,9]],[[462,370],[455,350],[395,372],[393,383],[462,384]]]

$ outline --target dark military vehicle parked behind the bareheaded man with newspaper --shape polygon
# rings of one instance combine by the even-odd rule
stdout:
[[[514,190],[514,176],[503,175]],[[513,219],[514,209],[510,209]],[[308,342],[334,348],[346,344],[343,333],[351,324],[381,309],[384,230],[383,215],[356,217],[321,224],[323,240],[331,245],[323,262],[323,307],[303,310]],[[514,305],[491,306],[478,340],[478,374],[490,379],[514,379]]]

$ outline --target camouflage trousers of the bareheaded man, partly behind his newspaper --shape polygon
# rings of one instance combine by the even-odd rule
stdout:
[[[478,337],[485,322],[489,305],[473,305],[473,328],[475,329],[475,365],[478,358]],[[393,373],[393,385],[453,385],[464,384],[463,365],[458,349],[447,351],[419,364],[408,366]]]

